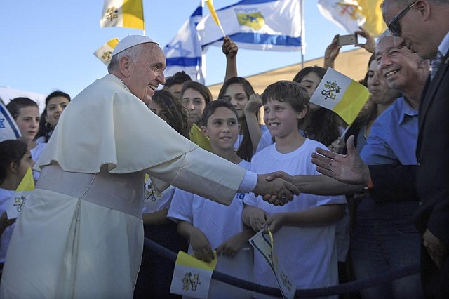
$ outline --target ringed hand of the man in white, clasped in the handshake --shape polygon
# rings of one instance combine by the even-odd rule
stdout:
[[[268,201],[270,204],[274,204],[274,206],[283,206],[292,200],[293,196],[300,194],[300,190],[291,182],[281,178],[268,181],[266,178],[267,174],[257,175],[257,185],[253,192],[262,195],[264,201]],[[267,196],[265,197],[264,195]]]

